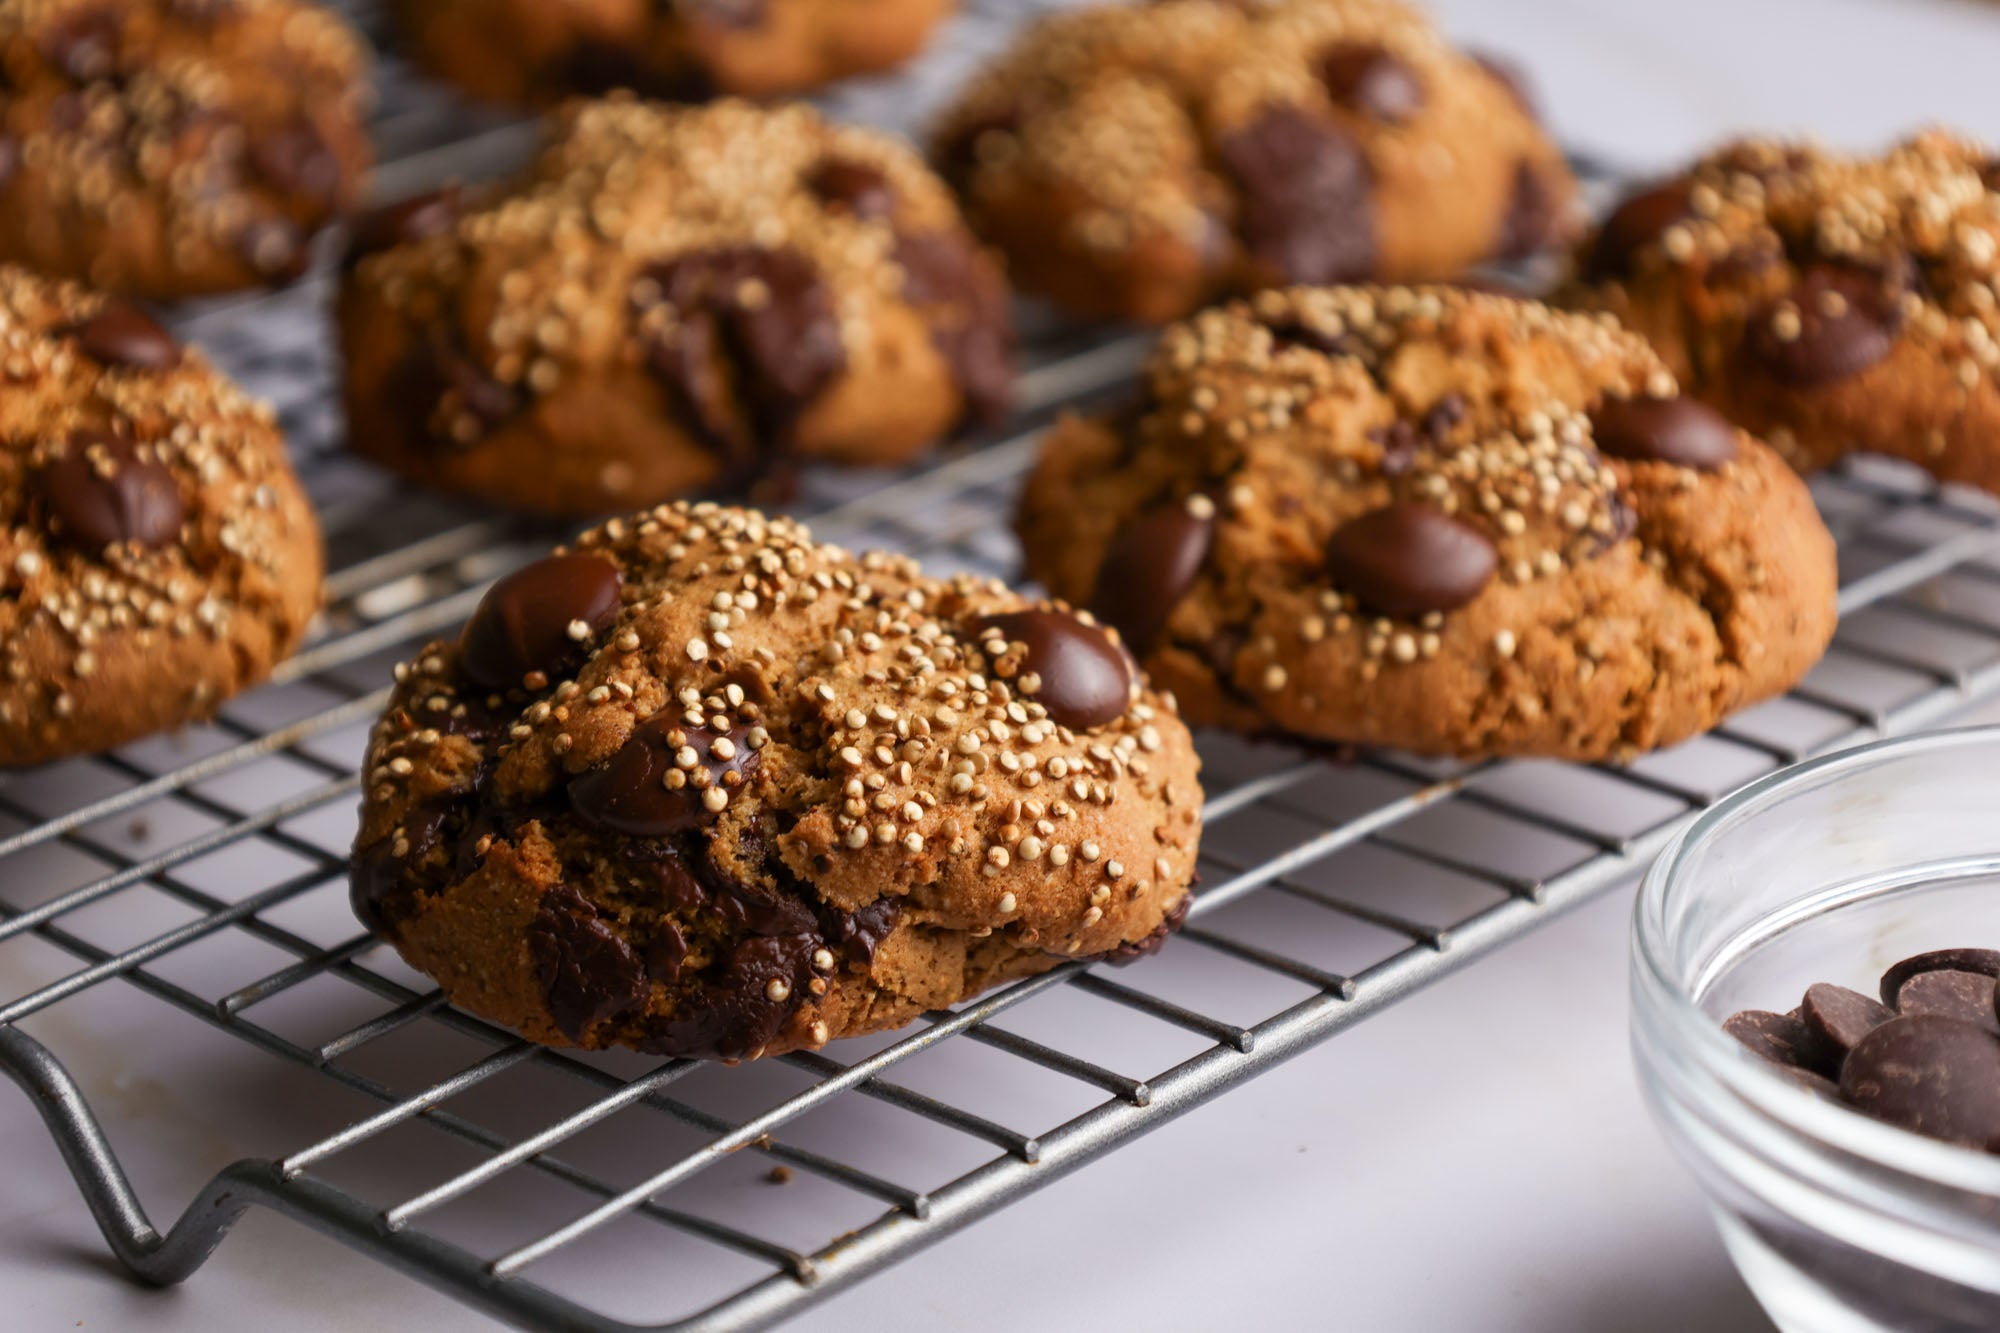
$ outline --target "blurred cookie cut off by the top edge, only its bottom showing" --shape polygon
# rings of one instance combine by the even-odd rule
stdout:
[[[888,70],[952,0],[392,0],[416,62],[466,92],[550,104],[630,88],[770,98]]]

